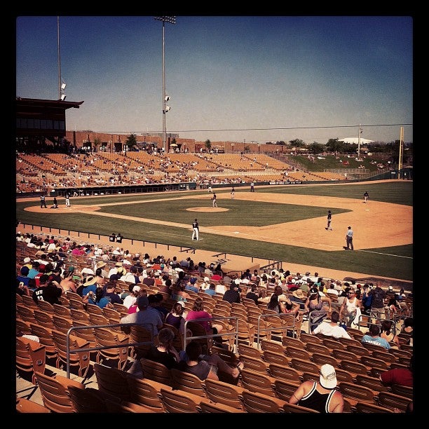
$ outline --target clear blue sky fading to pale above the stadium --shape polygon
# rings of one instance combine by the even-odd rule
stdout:
[[[162,53],[154,16],[60,16],[67,130],[162,132]],[[412,142],[413,19],[178,15],[165,88],[179,137]],[[17,17],[16,95],[58,99],[57,16]]]

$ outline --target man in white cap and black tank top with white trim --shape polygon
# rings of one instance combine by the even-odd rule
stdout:
[[[344,399],[336,385],[335,368],[329,364],[322,365],[319,381],[304,381],[292,393],[289,403],[315,409],[322,414],[342,413]]]

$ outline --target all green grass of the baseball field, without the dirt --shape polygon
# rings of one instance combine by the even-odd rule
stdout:
[[[236,188],[239,191],[239,188]],[[219,190],[220,193],[229,193]],[[362,198],[362,194],[368,191],[372,200],[388,203],[413,205],[413,183],[403,182],[374,182],[371,184],[346,184],[342,186],[330,185],[316,186],[275,186],[257,187],[257,192],[275,193],[299,193],[304,195],[334,196],[339,198]],[[127,216],[158,219],[168,222],[179,222],[191,224],[193,217],[198,214],[189,212],[187,207],[200,207],[203,200],[190,198],[189,200],[162,201],[166,196],[197,196],[206,195],[207,205],[210,205],[210,196],[207,191],[179,191],[178,193],[156,193],[156,194],[132,194],[123,196],[97,196],[72,198],[71,203],[79,205],[94,205],[114,202],[132,202],[134,200],[154,200],[150,204],[121,204],[102,207],[102,212],[125,214]],[[159,200],[159,201],[157,201]],[[238,201],[238,200],[237,200]],[[47,201],[50,203],[50,198]],[[204,212],[205,225],[252,225],[264,226],[280,222],[293,222],[299,219],[325,216],[326,207],[313,207],[291,205],[285,211],[285,205],[275,203],[245,202],[226,198],[222,200],[222,207],[228,208],[227,212]],[[51,213],[48,217],[36,212],[26,212],[25,207],[39,204],[36,202],[20,202],[16,206],[16,217],[20,222],[36,226],[50,226],[64,231],[79,231],[84,233],[100,234],[109,236],[112,232],[121,232],[125,238],[134,240],[145,240],[156,243],[170,244],[187,247],[189,246],[189,231],[175,226],[165,226],[146,222],[135,222],[128,219],[97,217],[82,213]],[[347,210],[336,209],[334,214],[347,212]],[[287,213],[287,215],[286,215]],[[162,239],[160,238],[162,237]],[[165,237],[168,237],[165,238]],[[259,240],[243,240],[240,238],[218,236],[205,233],[204,240],[193,242],[193,247],[210,250],[216,253],[242,254],[261,259],[272,259],[285,261],[291,264],[306,264],[308,266],[324,266],[341,271],[354,271],[357,273],[368,273],[382,277],[397,278],[401,280],[413,280],[413,245],[386,247],[371,252],[325,252],[313,250],[306,247],[292,245],[280,245],[264,243]],[[400,256],[400,258],[398,258]]]

